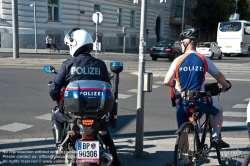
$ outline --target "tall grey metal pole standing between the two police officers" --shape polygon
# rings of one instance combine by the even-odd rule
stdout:
[[[141,0],[141,23],[140,23],[140,43],[139,43],[139,67],[138,67],[138,93],[137,93],[137,114],[136,114],[136,140],[135,156],[143,157],[143,136],[144,136],[144,92],[142,91],[142,79],[145,72],[146,58],[146,14],[147,0]]]

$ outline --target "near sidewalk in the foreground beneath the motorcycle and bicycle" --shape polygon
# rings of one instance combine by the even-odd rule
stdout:
[[[118,147],[118,155],[123,166],[168,166],[173,165],[175,139],[174,135],[144,137],[143,156],[140,158],[135,157],[135,138],[114,138],[114,142]],[[221,151],[223,165],[241,165],[250,150],[248,138],[223,139],[231,146]],[[14,165],[62,166],[64,165],[62,163],[48,163],[48,156],[53,152],[54,146],[52,138],[2,139],[0,140],[0,165],[18,163]],[[218,165],[216,152],[212,150],[208,160],[201,160],[199,164]]]

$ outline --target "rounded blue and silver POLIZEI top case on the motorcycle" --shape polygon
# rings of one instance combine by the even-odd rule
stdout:
[[[110,112],[113,105],[112,87],[103,81],[73,81],[64,93],[64,106],[68,112],[105,113]]]

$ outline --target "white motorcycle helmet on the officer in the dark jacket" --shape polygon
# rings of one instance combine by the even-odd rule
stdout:
[[[75,57],[83,52],[93,50],[93,39],[90,34],[80,28],[73,28],[64,37],[64,43],[69,46],[69,53]]]

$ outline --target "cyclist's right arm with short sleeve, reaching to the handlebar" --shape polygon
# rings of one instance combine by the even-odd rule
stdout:
[[[208,73],[211,74],[221,85],[222,91],[229,87],[225,76],[217,69],[217,67],[213,64],[213,62],[207,58],[208,63]]]

